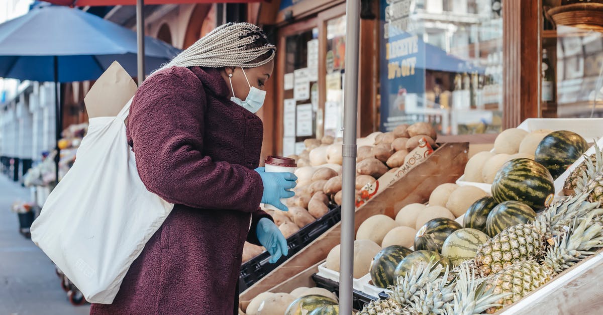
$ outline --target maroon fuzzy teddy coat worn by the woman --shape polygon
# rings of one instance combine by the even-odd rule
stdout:
[[[245,240],[258,244],[262,121],[228,99],[217,69],[169,68],[145,81],[128,141],[147,188],[174,203],[111,305],[90,314],[238,313]]]

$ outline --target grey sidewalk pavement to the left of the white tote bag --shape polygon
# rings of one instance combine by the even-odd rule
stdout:
[[[0,314],[89,314],[89,305],[69,303],[54,265],[34,243],[19,234],[14,200],[30,200],[30,190],[0,174]]]

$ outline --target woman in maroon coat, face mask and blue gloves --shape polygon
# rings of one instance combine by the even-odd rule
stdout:
[[[257,168],[264,86],[276,48],[260,28],[227,24],[175,57],[136,92],[128,141],[140,179],[174,210],[128,270],[111,305],[91,314],[238,313],[244,242],[262,245],[271,262],[287,255],[268,203],[297,179]]]

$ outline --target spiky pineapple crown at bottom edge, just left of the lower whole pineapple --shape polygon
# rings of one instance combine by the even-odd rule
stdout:
[[[507,298],[511,293],[494,294],[494,288],[486,291],[478,288],[484,282],[484,279],[476,279],[475,269],[461,264],[459,266],[458,277],[456,278],[456,287],[453,303],[446,307],[446,315],[474,315],[481,314],[491,307],[500,307],[497,304],[500,299]]]

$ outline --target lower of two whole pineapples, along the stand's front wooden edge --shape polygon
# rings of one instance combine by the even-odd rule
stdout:
[[[576,218],[566,234],[555,238],[542,263],[535,260],[514,263],[487,278],[485,288],[493,289],[496,294],[511,293],[498,301],[501,305],[510,305],[551,281],[557,273],[573,266],[579,259],[593,255],[594,252],[590,250],[603,247],[603,226],[593,220],[602,212],[603,209],[597,209],[587,217]],[[488,313],[494,313],[498,309],[499,307],[491,307]]]

